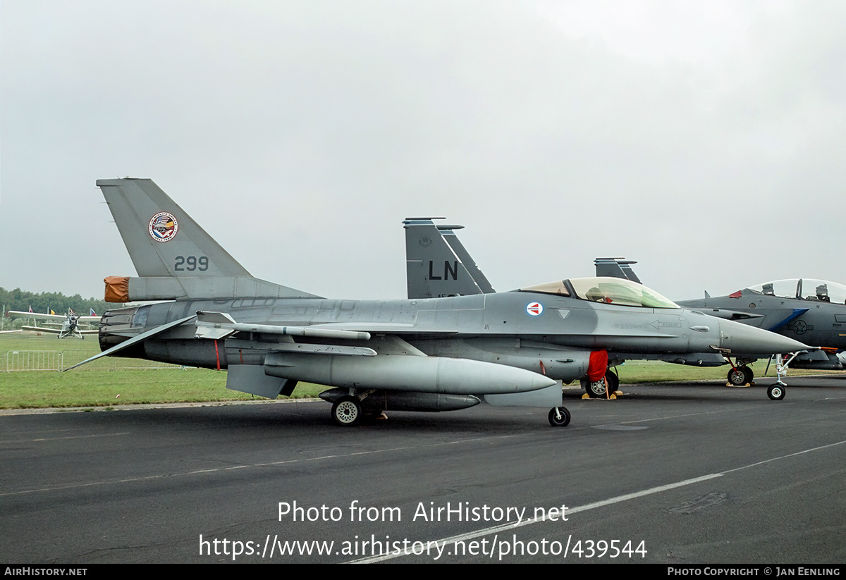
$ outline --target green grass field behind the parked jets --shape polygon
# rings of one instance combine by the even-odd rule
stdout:
[[[34,333],[0,335],[0,408],[106,407],[151,402],[249,401],[260,399],[239,391],[228,391],[226,374],[173,364],[152,363],[135,358],[104,357],[67,373],[55,370],[14,370],[23,353],[60,353],[67,369],[100,352],[96,337],[85,340]],[[18,354],[14,354],[18,353]],[[31,359],[32,357],[30,357]],[[36,360],[56,363],[57,355],[37,355]],[[764,374],[766,361],[752,365],[755,376]],[[618,367],[624,384],[668,380],[725,380],[728,367],[699,369],[660,362],[629,362]],[[769,375],[774,375],[772,368]],[[296,398],[316,397],[327,387],[300,383]]]

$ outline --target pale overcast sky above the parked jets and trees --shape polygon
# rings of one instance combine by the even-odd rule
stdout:
[[[846,3],[0,3],[0,286],[135,275],[97,178],[253,276],[404,298],[405,216],[497,290],[846,283]]]

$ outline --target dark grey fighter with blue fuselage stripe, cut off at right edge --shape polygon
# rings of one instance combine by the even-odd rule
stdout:
[[[596,275],[632,280],[633,260],[597,258]],[[636,276],[635,276],[636,279]],[[794,369],[846,369],[846,286],[813,278],[793,278],[757,284],[728,296],[680,300],[679,305],[726,320],[777,332],[820,347],[799,353]],[[728,371],[735,386],[749,383],[754,374],[749,359],[740,359]]]

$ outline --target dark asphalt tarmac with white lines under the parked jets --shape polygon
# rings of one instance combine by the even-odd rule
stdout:
[[[4,415],[0,561],[846,562],[846,377],[770,382],[565,391],[566,428],[487,405]]]

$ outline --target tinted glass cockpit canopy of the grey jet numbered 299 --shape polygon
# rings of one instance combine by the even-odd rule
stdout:
[[[618,306],[680,308],[678,304],[664,298],[661,294],[656,293],[655,290],[637,282],[632,282],[631,280],[624,280],[623,278],[570,278],[569,280],[547,282],[546,284],[520,288],[519,292],[556,294],[558,296],[590,300],[591,302],[617,304]]]

